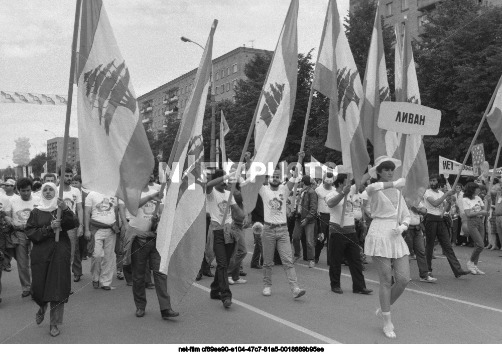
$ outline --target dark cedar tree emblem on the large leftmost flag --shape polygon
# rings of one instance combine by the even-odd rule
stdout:
[[[109,135],[110,124],[117,107],[136,112],[136,98],[129,90],[129,69],[125,62],[115,66],[114,60],[101,70],[103,64],[84,73],[87,99],[97,108],[99,125],[104,118],[104,129]],[[113,68],[113,69],[112,69]],[[91,92],[92,91],[92,92]],[[94,102],[97,99],[97,107]],[[103,114],[104,111],[104,114]]]

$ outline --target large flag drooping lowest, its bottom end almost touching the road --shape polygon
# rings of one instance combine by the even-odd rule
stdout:
[[[202,59],[193,82],[192,94],[183,113],[183,119],[169,161],[183,171],[180,182],[171,173],[164,211],[157,231],[157,250],[161,256],[160,271],[167,274],[168,292],[174,301],[180,301],[197,276],[204,255],[206,233],[205,183],[201,166],[204,160],[202,122],[211,72],[214,20]]]

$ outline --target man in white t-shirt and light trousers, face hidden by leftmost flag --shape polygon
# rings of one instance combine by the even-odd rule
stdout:
[[[111,290],[115,263],[115,234],[118,232],[118,203],[114,196],[90,192],[85,198],[84,237],[89,245],[92,286]],[[92,252],[90,252],[92,251]]]

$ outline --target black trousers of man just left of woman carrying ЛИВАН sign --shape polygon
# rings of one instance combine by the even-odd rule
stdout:
[[[339,234],[332,229],[329,239],[329,280],[331,289],[340,287],[340,274],[342,270],[342,258],[346,258],[350,275],[352,276],[352,290],[361,290],[366,287],[362,275],[361,254],[359,252],[359,240],[354,233]]]

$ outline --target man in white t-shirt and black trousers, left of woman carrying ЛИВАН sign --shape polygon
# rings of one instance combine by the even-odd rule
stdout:
[[[355,188],[347,183],[347,174],[338,173],[334,182],[335,190],[326,196],[330,208],[329,218],[329,280],[331,291],[342,294],[340,275],[342,259],[347,259],[352,276],[352,292],[370,294],[362,275],[362,260],[359,240],[355,233],[353,195]],[[345,206],[345,208],[344,208]],[[343,215],[343,220],[342,220]]]

